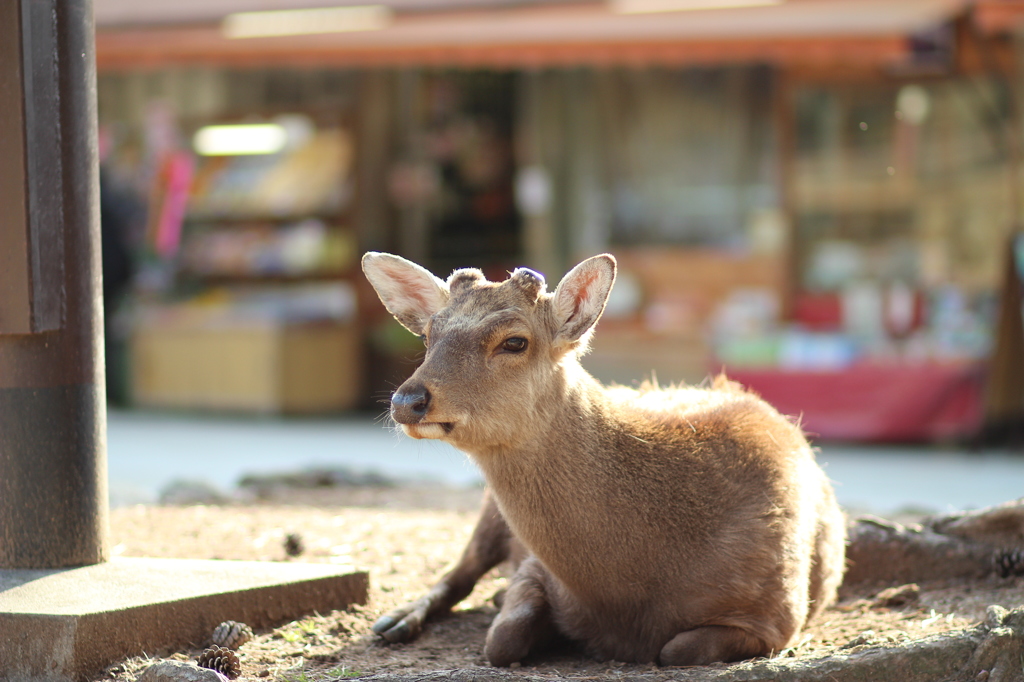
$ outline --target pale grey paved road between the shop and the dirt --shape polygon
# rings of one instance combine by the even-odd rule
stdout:
[[[326,466],[454,485],[480,480],[461,453],[369,417],[246,419],[115,412],[108,430],[114,505],[155,501],[176,479],[230,491],[245,474]],[[848,509],[892,514],[982,507],[1024,496],[1024,453],[824,444],[819,461]]]

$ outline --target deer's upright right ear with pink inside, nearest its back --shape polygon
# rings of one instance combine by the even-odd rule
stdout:
[[[604,304],[615,282],[615,259],[601,254],[583,261],[562,278],[553,303],[555,345],[586,343],[586,336],[604,312]]]

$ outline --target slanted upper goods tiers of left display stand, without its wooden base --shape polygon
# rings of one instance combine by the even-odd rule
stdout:
[[[290,285],[351,275],[353,141],[292,113],[304,133],[275,154],[205,157],[184,216],[179,280]]]

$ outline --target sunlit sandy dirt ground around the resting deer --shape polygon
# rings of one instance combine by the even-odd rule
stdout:
[[[487,666],[483,640],[497,609],[492,596],[504,584],[493,571],[451,615],[432,622],[413,643],[387,645],[371,624],[422,595],[458,558],[469,538],[480,489],[436,486],[340,487],[263,492],[218,506],[139,506],[112,511],[116,556],[150,556],[351,564],[370,572],[370,601],[348,611],[287,624],[242,646],[242,679],[294,682],[376,673],[426,673]],[[993,501],[999,502],[999,501]],[[297,557],[285,551],[289,534],[301,537]],[[846,593],[781,655],[817,657],[837,648],[898,642],[973,626],[989,604],[1024,605],[1024,578],[922,585],[920,597],[885,606],[878,589]],[[867,631],[871,631],[868,633]],[[201,649],[161,652],[195,659]],[[112,666],[96,680],[134,680],[152,658]],[[551,679],[596,679],[651,666],[599,663],[571,650],[551,651],[520,669]]]

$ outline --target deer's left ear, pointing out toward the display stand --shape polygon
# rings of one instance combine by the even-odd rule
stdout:
[[[423,334],[430,315],[447,305],[447,285],[399,256],[367,252],[362,272],[388,312],[413,334]]]

